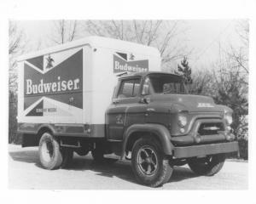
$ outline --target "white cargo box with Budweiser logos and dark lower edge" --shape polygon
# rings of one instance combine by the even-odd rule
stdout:
[[[37,133],[47,124],[62,135],[104,137],[117,75],[160,71],[160,54],[132,42],[87,37],[23,55],[18,66],[20,133]],[[92,133],[84,133],[86,125]]]

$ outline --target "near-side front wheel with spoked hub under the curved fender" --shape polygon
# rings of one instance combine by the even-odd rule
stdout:
[[[155,139],[138,139],[131,151],[131,167],[139,183],[158,187],[169,181],[173,167]]]

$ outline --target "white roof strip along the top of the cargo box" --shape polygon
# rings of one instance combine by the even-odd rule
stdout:
[[[112,48],[120,51],[122,50],[122,48],[125,48],[129,50],[131,53],[136,52],[136,53],[141,53],[148,56],[160,57],[160,53],[157,48],[148,47],[143,44],[138,44],[135,42],[127,42],[127,41],[122,41],[122,40],[108,38],[108,37],[91,36],[91,37],[84,37],[82,39],[75,40],[73,42],[66,42],[64,44],[57,45],[51,48],[38,50],[36,52],[32,52],[29,54],[23,54],[18,58],[18,61],[34,58],[44,54],[58,53],[63,50],[67,50],[70,48],[77,48],[83,45],[89,45],[90,47],[94,47],[94,48]]]

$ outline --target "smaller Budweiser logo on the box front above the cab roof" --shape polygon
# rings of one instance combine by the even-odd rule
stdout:
[[[148,71],[148,59],[143,60],[127,60],[127,54],[113,54],[113,72],[145,72]],[[132,55],[134,58],[134,55]],[[130,59],[133,59],[130,58]]]

